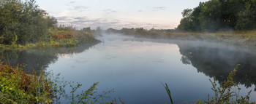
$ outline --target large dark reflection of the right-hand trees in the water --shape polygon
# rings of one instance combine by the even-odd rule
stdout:
[[[234,81],[246,87],[256,84],[256,55],[219,47],[198,47],[186,42],[179,43],[178,47],[182,63],[193,65],[206,76],[215,76],[218,81],[224,81],[228,73],[241,64]]]

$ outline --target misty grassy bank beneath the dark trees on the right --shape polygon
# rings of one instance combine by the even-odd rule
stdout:
[[[211,41],[233,44],[243,47],[256,47],[256,31],[229,31],[216,33],[166,33],[170,39],[186,39],[192,41]]]

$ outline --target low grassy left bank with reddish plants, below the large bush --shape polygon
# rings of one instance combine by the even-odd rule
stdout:
[[[50,28],[48,30],[48,37],[41,41],[29,44],[16,44],[15,41],[12,44],[0,44],[0,50],[11,49],[28,49],[28,48],[48,48],[48,47],[75,47],[79,44],[87,44],[99,42],[94,39],[91,31],[75,30],[72,27],[60,26],[58,28]]]

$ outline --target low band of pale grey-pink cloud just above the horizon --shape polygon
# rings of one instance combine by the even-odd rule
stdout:
[[[147,23],[147,22],[132,22],[132,21],[125,21],[125,20],[105,20],[105,18],[94,18],[90,19],[89,17],[69,17],[69,16],[61,16],[56,17],[61,25],[73,25],[76,28],[86,28],[91,27],[93,29],[97,28],[98,26],[103,29],[108,28],[170,28],[169,23]]]

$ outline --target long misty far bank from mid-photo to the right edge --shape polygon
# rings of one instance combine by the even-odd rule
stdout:
[[[242,47],[256,47],[256,31],[219,31],[214,33],[206,32],[181,32],[175,30],[157,30],[152,28],[123,28],[115,30],[109,28],[106,33],[118,33],[127,36],[135,36],[149,39],[177,39],[189,41],[209,41]]]

